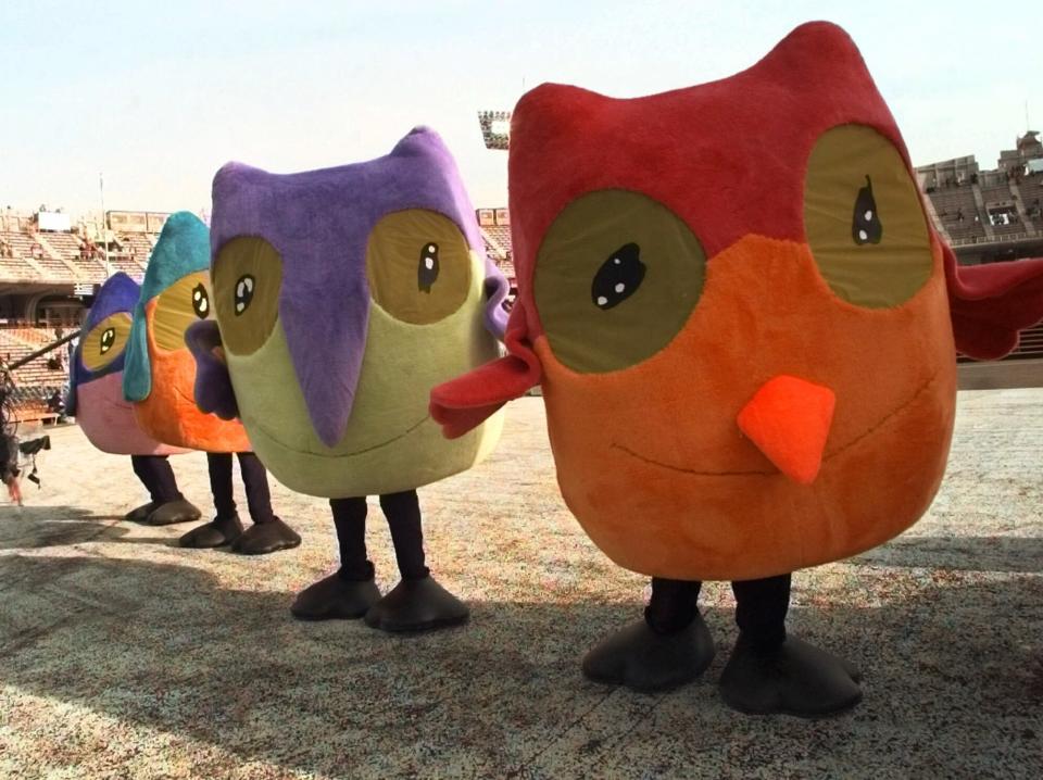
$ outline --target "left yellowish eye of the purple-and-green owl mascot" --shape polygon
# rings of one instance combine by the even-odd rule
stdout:
[[[282,257],[259,236],[238,236],[214,259],[214,306],[225,348],[256,352],[275,328],[282,288]]]

